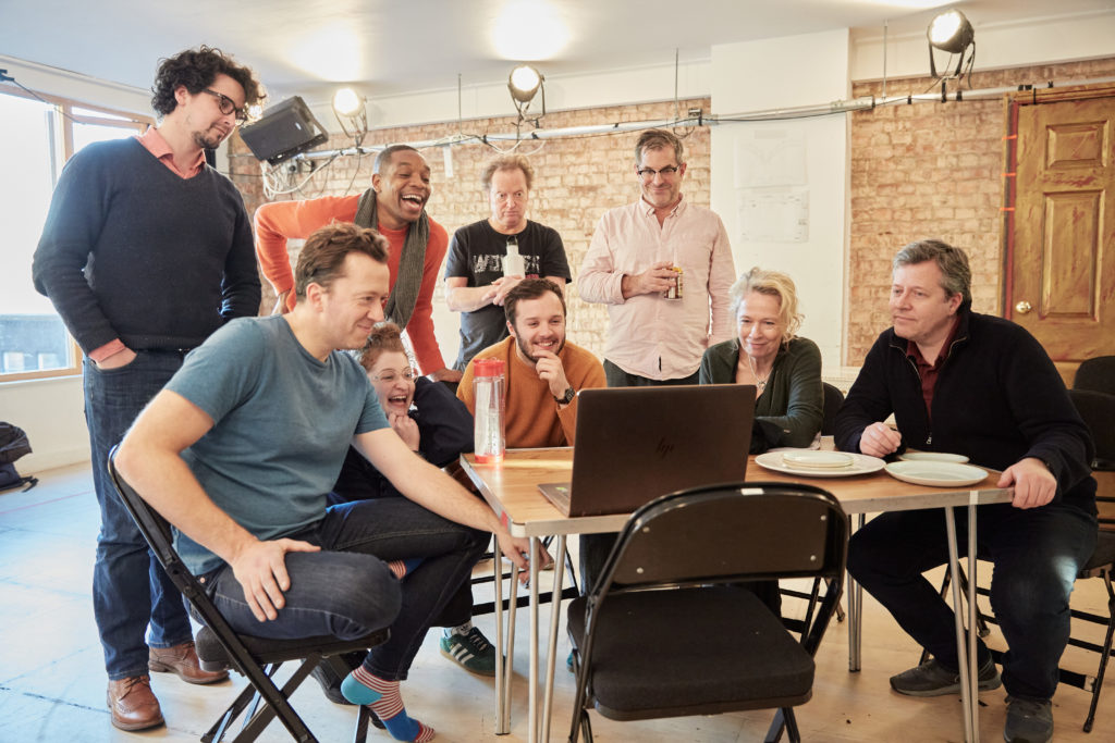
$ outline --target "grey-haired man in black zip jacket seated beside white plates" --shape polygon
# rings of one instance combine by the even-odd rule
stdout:
[[[1034,336],[971,311],[962,251],[920,241],[893,268],[894,326],[867,353],[836,416],[836,444],[873,457],[910,446],[1002,470],[998,487],[1014,488],[1014,498],[980,508],[976,544],[995,563],[991,606],[1010,649],[1000,681],[979,644],[979,688],[1006,686],[1008,742],[1048,741],[1068,596],[1096,544],[1092,438]],[[896,431],[882,422],[892,412]],[[967,545],[964,519],[957,530]],[[891,677],[900,694],[960,691],[952,610],[922,576],[947,559],[939,510],[883,514],[849,545],[849,573],[933,656]]]

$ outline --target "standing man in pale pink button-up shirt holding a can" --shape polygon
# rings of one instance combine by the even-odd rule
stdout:
[[[634,148],[642,197],[605,213],[576,278],[585,302],[608,305],[608,387],[696,384],[701,355],[735,329],[735,281],[724,223],[681,195],[681,141],[648,129]]]

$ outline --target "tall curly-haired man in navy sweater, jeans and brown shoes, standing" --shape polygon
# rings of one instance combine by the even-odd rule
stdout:
[[[260,281],[243,199],[205,164],[262,98],[252,71],[209,47],[159,65],[157,127],[89,145],[66,164],[35,252],[36,289],[85,352],[85,413],[101,526],[94,613],[112,722],[163,723],[149,671],[193,684],[190,618],[106,472],[109,449],[182,365],[233,317],[259,312]],[[145,630],[151,628],[145,638]]]

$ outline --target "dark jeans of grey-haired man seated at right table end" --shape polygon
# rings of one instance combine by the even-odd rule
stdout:
[[[991,608],[1009,651],[1002,683],[1012,696],[1051,698],[1069,635],[1068,597],[1096,545],[1096,517],[1059,502],[1022,510],[981,506],[976,549],[995,564]],[[847,570],[933,657],[958,667],[952,609],[922,573],[948,561],[941,509],[883,514],[849,544]],[[968,516],[957,512],[967,554]],[[979,644],[980,657],[988,656]]]

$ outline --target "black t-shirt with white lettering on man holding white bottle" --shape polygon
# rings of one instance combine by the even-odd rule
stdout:
[[[518,253],[523,256],[527,276],[572,277],[565,246],[556,229],[527,221],[517,235]],[[507,255],[507,238],[497,233],[487,219],[465,225],[453,234],[445,277],[464,277],[468,286],[487,286],[503,276],[503,260]],[[460,313],[460,352],[453,365],[464,371],[473,356],[507,338],[503,307],[488,304],[473,312]]]

